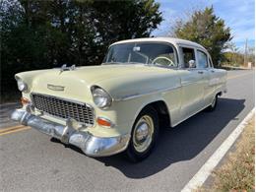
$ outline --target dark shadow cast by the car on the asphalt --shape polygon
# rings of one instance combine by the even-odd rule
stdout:
[[[129,162],[123,154],[96,160],[103,162],[106,166],[119,169],[129,178],[151,176],[171,163],[196,157],[230,120],[236,119],[244,108],[244,101],[245,99],[220,98],[214,112],[202,111],[173,129],[162,127],[158,145],[153,154],[142,162]],[[68,147],[82,153],[75,147]]]

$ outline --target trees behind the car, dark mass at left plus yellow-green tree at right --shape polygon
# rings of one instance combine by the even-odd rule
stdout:
[[[99,65],[111,43],[151,36],[162,20],[155,0],[2,0],[1,98],[17,93],[18,72],[63,64]],[[223,50],[231,39],[230,29],[213,7],[195,10],[186,20],[170,23],[169,29],[171,36],[204,45],[215,66],[226,60]]]

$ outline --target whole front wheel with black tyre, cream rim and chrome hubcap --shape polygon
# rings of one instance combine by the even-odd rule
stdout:
[[[133,125],[127,156],[133,162],[146,159],[159,135],[159,117],[154,107],[148,106],[138,115]]]

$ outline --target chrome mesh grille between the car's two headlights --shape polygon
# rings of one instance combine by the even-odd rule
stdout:
[[[73,118],[88,126],[95,123],[94,109],[86,103],[79,103],[56,96],[32,94],[32,103],[38,110],[64,119]]]

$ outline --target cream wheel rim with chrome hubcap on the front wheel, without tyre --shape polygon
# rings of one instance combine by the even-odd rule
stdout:
[[[144,115],[137,122],[133,133],[133,144],[137,152],[145,152],[152,143],[154,122],[149,115]]]

